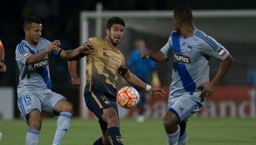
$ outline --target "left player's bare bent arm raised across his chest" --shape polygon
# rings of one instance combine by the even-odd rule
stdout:
[[[40,62],[50,52],[52,52],[53,50],[56,50],[56,48],[59,48],[59,45],[60,45],[60,40],[53,41],[48,48],[44,49],[43,51],[41,51],[39,53],[35,53],[35,54],[28,56],[28,58],[26,59],[26,64],[29,65],[29,64],[34,64],[34,63]]]

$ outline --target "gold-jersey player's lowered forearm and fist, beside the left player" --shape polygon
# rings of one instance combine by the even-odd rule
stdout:
[[[68,60],[68,70],[71,76],[71,83],[74,86],[80,86],[81,81],[77,75],[77,60],[80,59],[81,56],[76,57],[75,59]]]

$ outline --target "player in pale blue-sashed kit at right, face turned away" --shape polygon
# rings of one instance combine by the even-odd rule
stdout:
[[[168,42],[156,52],[143,51],[143,59],[156,62],[174,59],[168,110],[163,117],[168,145],[187,142],[186,122],[205,104],[218,82],[233,63],[228,50],[211,36],[198,30],[193,22],[191,9],[178,6],[173,12],[173,26]],[[210,58],[221,61],[217,74],[209,81]]]

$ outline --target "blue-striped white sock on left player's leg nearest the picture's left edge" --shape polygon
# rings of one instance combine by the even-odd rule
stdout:
[[[37,145],[40,131],[29,128],[26,136],[26,145]]]

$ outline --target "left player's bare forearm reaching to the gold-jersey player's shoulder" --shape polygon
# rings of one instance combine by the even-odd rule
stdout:
[[[84,43],[83,45],[73,50],[62,50],[60,53],[60,58],[70,60],[77,57],[83,51],[89,51],[93,49],[95,49],[94,45],[90,43]]]

